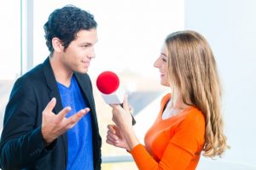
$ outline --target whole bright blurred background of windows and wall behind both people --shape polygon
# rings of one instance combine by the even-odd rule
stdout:
[[[9,0],[0,10],[0,132],[9,93],[15,80],[49,52],[44,23],[55,8],[73,4],[94,14],[98,23],[96,59],[89,74],[96,87],[102,71],[114,71],[129,94],[140,141],[160,109],[168,88],[160,86],[153,67],[166,35],[199,31],[212,47],[224,88],[224,130],[231,146],[219,159],[201,157],[197,169],[256,169],[256,1],[254,0]],[[102,135],[102,170],[136,170],[125,151],[106,144],[111,109],[94,88]]]

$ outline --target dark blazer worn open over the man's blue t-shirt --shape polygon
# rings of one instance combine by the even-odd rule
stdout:
[[[102,139],[98,129],[90,77],[76,72],[74,76],[90,107],[94,168],[101,169]],[[12,170],[67,169],[67,133],[55,139],[47,148],[44,147],[41,134],[42,112],[53,97],[56,99],[54,112],[58,113],[62,110],[61,96],[49,59],[15,82],[3,120],[0,167]]]

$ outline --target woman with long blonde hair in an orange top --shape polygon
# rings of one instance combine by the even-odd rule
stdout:
[[[177,31],[166,37],[154,62],[160,83],[172,89],[160,113],[139,143],[127,99],[113,107],[107,143],[125,148],[139,169],[195,169],[203,156],[221,156],[228,147],[221,115],[221,88],[212,50],[199,33]]]

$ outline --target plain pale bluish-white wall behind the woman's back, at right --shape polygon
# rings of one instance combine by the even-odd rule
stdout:
[[[256,169],[255,8],[254,0],[185,0],[185,29],[199,31],[207,38],[223,83],[225,132],[231,149],[222,161],[250,165],[253,169]]]

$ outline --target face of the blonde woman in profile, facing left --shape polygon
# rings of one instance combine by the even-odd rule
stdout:
[[[158,68],[160,71],[160,83],[163,86],[170,86],[167,77],[167,56],[168,50],[166,48],[166,44],[163,45],[160,51],[160,56],[154,61],[154,67]]]

